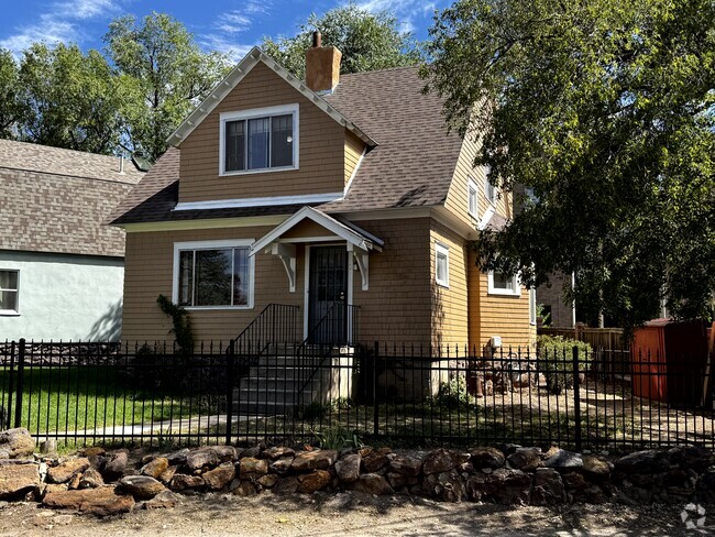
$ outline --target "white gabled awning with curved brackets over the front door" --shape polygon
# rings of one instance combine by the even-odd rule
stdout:
[[[295,244],[292,244],[292,242],[294,242],[292,239],[283,239],[283,235],[304,220],[312,220],[318,226],[332,233],[337,240],[345,241],[348,244],[348,251],[352,252],[355,262],[358,263],[358,267],[360,268],[362,275],[362,288],[363,291],[367,291],[369,254],[372,250],[381,252],[384,242],[351,222],[339,220],[312,207],[306,206],[301,208],[295,215],[276,226],[271,232],[254,242],[251,246],[250,255],[255,255],[261,251],[277,255],[288,274],[290,292],[295,292],[296,246]]]

